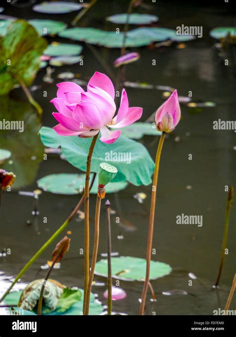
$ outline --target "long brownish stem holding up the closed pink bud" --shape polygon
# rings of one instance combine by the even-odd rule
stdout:
[[[145,281],[144,281],[143,290],[142,290],[139,315],[144,315],[144,307],[145,307],[145,302],[146,302],[146,295],[147,295],[149,275],[150,275],[151,249],[152,249],[154,215],[155,215],[155,204],[156,204],[156,188],[157,188],[157,179],[158,179],[161,150],[162,150],[164,138],[165,138],[165,132],[162,132],[160,136],[157,152],[156,152],[155,169],[154,169],[154,175],[153,175],[151,207],[150,207],[148,236],[147,236],[146,276],[145,276]]]

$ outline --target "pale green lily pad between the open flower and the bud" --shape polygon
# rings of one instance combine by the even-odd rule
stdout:
[[[153,124],[136,122],[122,128],[122,135],[132,139],[140,139],[144,135],[160,136],[161,132],[157,131]]]

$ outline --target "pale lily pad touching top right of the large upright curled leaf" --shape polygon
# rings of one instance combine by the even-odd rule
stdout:
[[[32,19],[28,21],[39,33],[39,35],[54,35],[66,29],[67,24],[61,21]]]

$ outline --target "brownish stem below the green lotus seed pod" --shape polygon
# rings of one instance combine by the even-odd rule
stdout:
[[[90,294],[91,294],[92,283],[94,279],[94,271],[95,271],[95,265],[97,261],[97,255],[98,255],[100,208],[101,208],[101,198],[97,195],[97,203],[96,203],[96,211],[95,211],[94,249],[93,249],[93,257],[92,257],[92,262],[91,262],[89,282],[88,282],[87,293],[86,293],[86,303],[85,303],[84,315],[89,315]]]

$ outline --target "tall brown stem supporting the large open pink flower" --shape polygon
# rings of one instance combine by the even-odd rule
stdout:
[[[83,303],[83,313],[86,311],[86,299],[87,299],[87,289],[89,284],[89,180],[90,180],[90,169],[91,169],[91,159],[94,152],[94,147],[98,139],[98,135],[93,137],[91,142],[86,167],[86,177],[85,177],[85,239],[84,239],[84,303]]]

